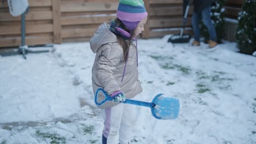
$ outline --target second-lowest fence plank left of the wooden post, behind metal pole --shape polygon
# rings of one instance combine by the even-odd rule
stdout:
[[[26,33],[47,33],[47,32],[53,32],[52,24],[26,25]],[[0,35],[20,34],[20,33],[21,33],[21,26],[0,26]]]

